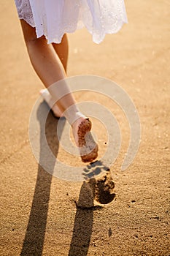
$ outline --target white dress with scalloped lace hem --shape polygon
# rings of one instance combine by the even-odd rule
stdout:
[[[37,37],[60,43],[65,33],[86,27],[93,42],[127,23],[123,0],[15,0],[20,19],[36,27]]]

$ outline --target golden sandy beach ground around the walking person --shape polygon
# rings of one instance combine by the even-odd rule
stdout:
[[[69,35],[68,75],[114,80],[134,100],[142,125],[138,154],[122,172],[129,140],[123,111],[88,92],[77,95],[80,102],[98,99],[106,105],[122,132],[120,154],[107,176],[115,182],[111,202],[103,197],[99,204],[90,194],[92,181],[55,178],[32,154],[28,120],[43,86],[28,60],[14,1],[1,0],[0,255],[170,255],[170,4],[168,0],[125,4],[128,25],[101,45],[95,45],[84,29]],[[56,124],[48,116],[48,136],[55,134]],[[106,134],[95,121],[94,130],[102,155]],[[80,165],[58,149],[53,138],[50,146],[64,161]]]

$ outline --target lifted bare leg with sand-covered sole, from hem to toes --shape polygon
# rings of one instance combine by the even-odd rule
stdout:
[[[21,26],[31,63],[37,75],[39,75],[39,78],[42,80],[42,83],[48,88],[58,80],[66,78],[66,72],[64,71],[61,60],[55,53],[53,45],[47,45],[45,37],[36,38],[35,29],[29,26],[25,20],[21,20]],[[72,113],[68,113],[67,116],[65,116],[69,123],[72,124],[77,146],[83,148],[84,156],[82,156],[82,161],[91,162],[93,159],[96,159],[98,146],[94,143],[93,138],[90,138],[88,145],[86,145],[85,141],[85,135],[90,131],[90,121],[77,109],[76,102],[72,93],[69,92],[69,89],[68,94],[58,100],[58,106],[62,112],[69,109],[71,106],[74,107],[72,108]],[[78,117],[76,121],[75,117]],[[72,120],[74,120],[74,123]]]

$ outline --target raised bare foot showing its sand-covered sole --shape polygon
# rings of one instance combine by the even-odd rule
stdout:
[[[91,135],[91,121],[89,118],[80,117],[72,124],[74,140],[80,148],[82,162],[93,162],[98,157],[98,145]]]

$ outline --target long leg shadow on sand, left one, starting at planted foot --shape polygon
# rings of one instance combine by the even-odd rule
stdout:
[[[43,110],[47,111],[47,105],[42,102],[37,110],[37,118],[39,125],[42,127],[43,123]],[[56,127],[58,120],[53,118],[49,113],[45,125],[45,132],[47,142],[53,151],[53,154],[57,156],[59,142],[56,136]],[[63,122],[64,124],[64,122]],[[42,131],[41,131],[42,132]],[[39,162],[43,162],[42,157],[45,156],[45,148],[42,146],[42,133],[40,137],[40,156]],[[54,167],[55,162],[51,163],[51,167]],[[48,203],[50,200],[50,186],[52,181],[52,175],[47,173],[40,165],[38,167],[38,173],[36,177],[36,186],[34,192],[34,198],[31,206],[31,213],[28,220],[28,226],[26,230],[26,236],[23,241],[23,248],[20,253],[21,256],[26,255],[42,255],[43,244],[45,240],[45,229],[47,224],[47,211]]]

